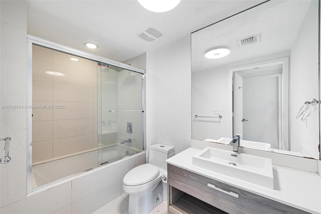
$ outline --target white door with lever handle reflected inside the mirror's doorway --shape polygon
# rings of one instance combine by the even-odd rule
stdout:
[[[243,78],[243,139],[279,148],[280,75]]]

